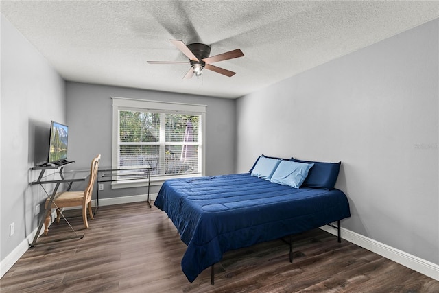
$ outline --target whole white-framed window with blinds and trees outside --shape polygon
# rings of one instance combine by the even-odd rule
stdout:
[[[113,168],[150,165],[151,180],[204,174],[206,106],[113,99]]]

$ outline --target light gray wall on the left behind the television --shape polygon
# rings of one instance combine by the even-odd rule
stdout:
[[[38,226],[45,194],[29,171],[47,159],[50,121],[65,123],[65,83],[47,60],[1,15],[0,259]],[[42,205],[44,207],[44,204]],[[43,208],[42,208],[43,209]],[[9,225],[15,233],[9,236]],[[27,242],[24,242],[27,249]]]

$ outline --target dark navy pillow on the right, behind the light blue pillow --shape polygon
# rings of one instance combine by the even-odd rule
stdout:
[[[325,163],[325,162],[314,162],[314,161],[302,161],[298,159],[291,158],[290,161],[298,163],[313,163],[314,166],[309,171],[303,186],[312,188],[324,188],[324,189],[334,189],[335,182],[337,181],[338,172],[340,171],[340,164],[338,163]]]

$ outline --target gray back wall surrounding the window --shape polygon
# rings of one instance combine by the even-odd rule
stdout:
[[[230,174],[235,167],[235,100],[185,95],[117,86],[67,82],[69,159],[73,167],[88,167],[102,154],[100,166],[111,166],[112,99],[128,97],[163,102],[206,105],[206,175]],[[152,193],[159,186],[152,187]],[[106,183],[99,198],[145,194],[144,188],[111,189]]]

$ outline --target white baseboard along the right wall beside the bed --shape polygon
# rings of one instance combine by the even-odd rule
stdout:
[[[333,228],[331,226],[322,226],[320,228],[333,235],[337,235],[336,228]],[[439,281],[439,265],[437,265],[436,263],[431,263],[430,261],[426,261],[425,259],[415,257],[414,255],[410,255],[410,253],[405,253],[402,250],[393,248],[381,242],[377,242],[374,239],[370,239],[369,237],[360,235],[346,228],[341,228],[341,234],[342,238],[348,242],[352,242],[353,244],[370,250],[373,253],[377,253],[377,255],[381,255],[387,259],[395,261],[396,263],[400,263],[407,268],[416,270],[416,272],[425,274],[427,277]]]

